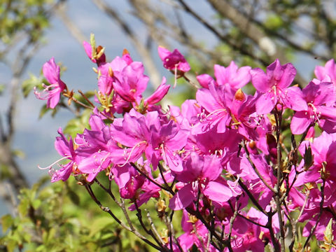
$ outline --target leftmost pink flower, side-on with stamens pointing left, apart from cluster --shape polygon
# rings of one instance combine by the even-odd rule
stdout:
[[[36,87],[34,87],[34,94],[37,99],[47,100],[47,108],[55,109],[61,93],[66,90],[66,85],[59,77],[59,66],[55,63],[54,57],[43,64],[42,71],[50,85],[43,83],[44,90],[42,93],[37,92]]]

